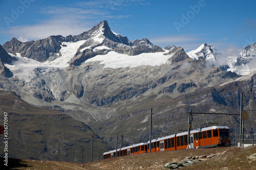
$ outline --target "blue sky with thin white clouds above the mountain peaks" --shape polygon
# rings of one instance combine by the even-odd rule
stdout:
[[[78,35],[107,20],[130,40],[147,38],[186,52],[206,42],[221,52],[256,42],[255,7],[254,0],[0,1],[0,44]]]

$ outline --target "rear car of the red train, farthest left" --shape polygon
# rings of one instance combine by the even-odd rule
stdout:
[[[137,144],[130,145],[129,147],[120,148],[117,151],[112,150],[109,152],[105,152],[103,153],[103,159],[115,158],[116,154],[117,154],[117,157],[119,157],[119,156],[142,154],[146,152],[147,152],[146,143],[137,143]]]

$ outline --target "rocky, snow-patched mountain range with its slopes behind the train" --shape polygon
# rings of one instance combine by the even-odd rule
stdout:
[[[225,58],[225,62],[223,62]],[[0,45],[0,110],[8,113],[9,156],[90,160],[92,134],[98,150],[187,129],[186,113],[239,113],[256,110],[256,43],[239,56],[223,56],[203,43],[185,53],[161,48],[148,39],[129,40],[102,21],[80,35],[50,36]],[[235,143],[239,116],[193,115],[192,129],[219,123]],[[4,116],[1,116],[1,123]],[[248,112],[247,132],[255,132],[255,112]],[[2,142],[0,144],[4,146]],[[60,151],[58,151],[60,149]],[[79,156],[78,156],[79,155]],[[1,154],[4,156],[4,153]]]

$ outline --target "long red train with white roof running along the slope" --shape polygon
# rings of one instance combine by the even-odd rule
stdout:
[[[151,152],[180,150],[186,148],[211,148],[228,147],[230,142],[230,131],[227,126],[211,126],[190,131],[190,144],[187,144],[188,132],[177,133],[151,140]],[[103,153],[103,159],[119,156],[148,153],[150,141],[137,143],[129,147],[120,148]]]

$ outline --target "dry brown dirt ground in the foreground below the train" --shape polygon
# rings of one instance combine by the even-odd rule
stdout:
[[[88,170],[112,170],[112,169],[165,169],[167,162],[182,161],[188,156],[201,156],[217,154],[213,158],[195,163],[182,169],[256,169],[256,146],[244,149],[236,147],[210,148],[210,149],[189,149],[179,151],[166,151],[150,154],[118,157],[108,160],[100,160],[89,163],[73,163],[41,160],[19,160],[9,159],[8,167],[3,165],[1,158],[1,169],[88,169]],[[255,153],[255,157],[253,157]]]

